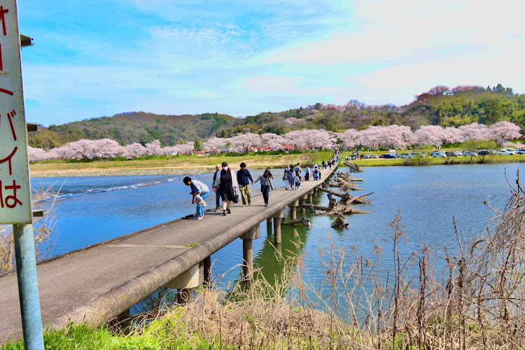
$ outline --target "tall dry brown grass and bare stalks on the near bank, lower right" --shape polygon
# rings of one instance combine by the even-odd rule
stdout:
[[[320,249],[321,283],[309,281],[300,255],[274,286],[257,279],[230,293],[202,288],[195,301],[158,319],[172,335],[213,349],[524,349],[519,174],[506,207],[494,212],[486,237],[464,242],[458,235],[457,251],[425,246],[407,257],[398,213],[388,257],[379,246],[366,259],[332,244]]]

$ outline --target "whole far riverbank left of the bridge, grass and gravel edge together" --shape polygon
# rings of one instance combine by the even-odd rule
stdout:
[[[313,153],[246,153],[244,155],[172,155],[152,156],[134,160],[52,160],[31,162],[31,177],[74,176],[133,176],[133,175],[181,175],[214,172],[215,165],[227,162],[239,168],[241,162],[248,167],[282,168],[287,164],[322,162],[333,156],[331,151]]]

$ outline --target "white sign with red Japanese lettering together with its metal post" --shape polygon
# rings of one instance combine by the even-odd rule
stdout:
[[[43,349],[16,0],[0,0],[0,223],[13,224],[25,349]]]

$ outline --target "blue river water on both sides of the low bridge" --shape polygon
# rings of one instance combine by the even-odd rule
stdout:
[[[494,216],[482,202],[488,199],[495,207],[503,207],[505,196],[510,194],[505,172],[510,183],[514,183],[520,168],[524,166],[515,163],[365,168],[356,176],[363,178],[359,187],[365,191],[354,193],[373,192],[372,203],[356,207],[372,211],[372,214],[346,216],[349,223],[346,230],[330,228],[334,218],[307,214],[311,228],[283,226],[283,244],[279,252],[285,256],[303,253],[305,271],[313,280],[325,276],[327,267],[320,250],[330,244],[347,251],[355,246],[364,258],[372,258],[374,247],[379,245],[388,259],[393,237],[388,223],[393,221],[398,210],[407,237],[407,242],[400,244],[402,255],[421,248],[422,242],[437,248],[455,248],[458,240],[453,219],[463,239],[479,235]],[[255,177],[262,170],[252,169],[251,172]],[[281,174],[281,171],[274,173]],[[192,178],[211,185],[212,176],[203,174]],[[52,251],[52,255],[59,255],[192,214],[195,206],[191,204],[190,190],[182,179],[183,176],[41,178],[31,179],[31,187],[60,188]],[[276,186],[282,186],[280,180],[276,180]],[[212,197],[208,199],[209,207],[214,207]],[[328,200],[324,193],[318,193],[315,202],[327,204]],[[290,217],[288,209],[286,215]],[[255,265],[273,283],[283,269],[283,260],[276,259],[276,249],[269,243],[273,241],[271,230],[265,222],[261,223],[261,238],[253,241],[253,256]],[[294,244],[297,239],[293,237],[298,237],[303,244]],[[240,268],[236,266],[242,261],[241,240],[233,241],[212,255],[211,260],[214,276],[221,276],[224,283],[236,281],[240,275]]]

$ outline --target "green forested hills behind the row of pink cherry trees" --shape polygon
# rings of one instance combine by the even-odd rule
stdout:
[[[351,100],[344,106],[316,103],[282,112],[259,113],[235,118],[225,114],[166,116],[129,112],[113,117],[92,118],[64,125],[50,125],[41,132],[29,134],[29,145],[39,148],[62,146],[78,139],[109,138],[120,144],[149,143],[159,139],[163,145],[230,137],[239,132],[272,132],[284,134],[298,129],[344,131],[365,129],[369,125],[460,126],[470,123],[491,125],[508,120],[525,127],[525,94],[514,94],[512,88],[471,85],[449,89],[436,86],[414,98],[405,106],[365,105]]]

